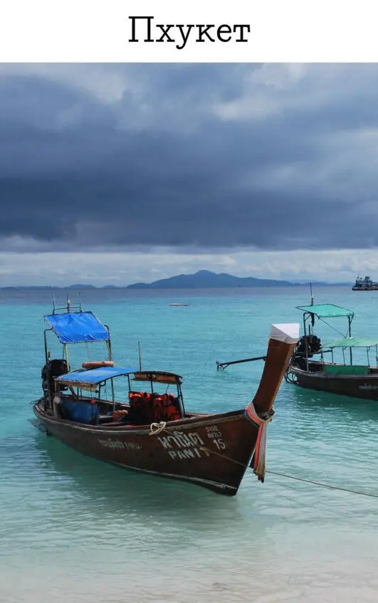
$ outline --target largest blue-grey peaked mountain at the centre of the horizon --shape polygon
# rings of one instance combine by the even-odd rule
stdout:
[[[154,280],[153,283],[134,283],[127,289],[209,289],[209,288],[235,288],[235,287],[293,287],[298,283],[288,280],[273,280],[267,278],[254,278],[253,276],[232,276],[227,273],[216,274],[209,270],[199,270],[194,274],[179,274],[170,278]]]

